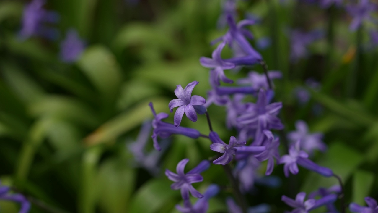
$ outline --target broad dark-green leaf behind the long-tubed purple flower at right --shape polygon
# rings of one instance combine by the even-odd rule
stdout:
[[[363,155],[355,149],[346,144],[334,141],[317,163],[332,169],[333,173],[339,175],[345,184],[352,172],[355,171],[363,160]],[[300,168],[299,170],[299,172],[301,172],[305,169]],[[310,193],[317,190],[319,187],[330,187],[335,184],[338,184],[335,178],[322,177],[317,173],[311,172],[302,186],[302,191]]]

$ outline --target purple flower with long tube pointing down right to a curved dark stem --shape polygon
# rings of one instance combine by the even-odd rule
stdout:
[[[308,154],[300,149],[299,144],[300,141],[297,141],[295,144],[291,144],[289,148],[289,154],[283,155],[279,160],[279,164],[285,164],[283,166],[283,172],[285,173],[286,177],[289,176],[289,171],[291,172],[291,174],[298,174],[299,169],[297,164],[310,171],[321,174],[324,177],[331,177],[333,175],[331,169],[319,166],[318,164],[309,160]]]

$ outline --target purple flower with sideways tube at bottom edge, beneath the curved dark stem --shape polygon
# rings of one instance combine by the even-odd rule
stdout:
[[[290,213],[308,213],[309,211],[314,210],[315,208],[333,203],[337,200],[336,194],[330,194],[318,200],[308,199],[305,201],[305,197],[306,193],[300,192],[295,197],[295,200],[285,195],[282,196],[281,200],[290,207],[294,208],[294,210],[290,211]]]

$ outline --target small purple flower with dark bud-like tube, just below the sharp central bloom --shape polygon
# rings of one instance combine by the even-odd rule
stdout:
[[[209,138],[213,144],[210,145],[210,149],[215,152],[224,153],[221,157],[213,161],[214,164],[226,165],[228,164],[236,153],[235,147],[244,146],[246,141],[237,142],[234,136],[230,137],[229,144],[223,142],[216,132],[211,132]]]

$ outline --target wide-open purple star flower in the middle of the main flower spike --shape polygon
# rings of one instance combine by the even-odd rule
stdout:
[[[268,104],[266,92],[260,89],[256,104],[251,103],[246,113],[239,116],[237,121],[256,128],[260,133],[265,129],[282,129],[283,124],[277,117],[280,108],[281,102]]]

